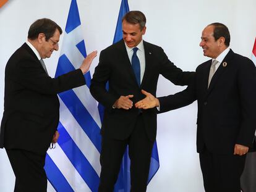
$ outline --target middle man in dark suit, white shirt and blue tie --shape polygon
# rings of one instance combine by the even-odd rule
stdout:
[[[145,15],[130,11],[122,19],[123,40],[101,51],[90,91],[105,106],[101,127],[99,191],[113,191],[122,156],[129,145],[131,191],[146,191],[150,157],[156,138],[156,111],[138,110],[140,90],[156,94],[159,75],[176,85],[187,85],[194,73],[182,72],[163,49],[142,40]],[[109,82],[109,90],[105,86]]]

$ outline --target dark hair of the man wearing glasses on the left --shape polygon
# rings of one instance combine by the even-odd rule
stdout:
[[[59,30],[60,34],[62,33],[61,27],[59,27],[59,25],[53,20],[46,18],[38,19],[30,25],[28,30],[28,39],[35,40],[39,33],[44,33],[45,39],[48,41],[49,38],[54,35],[56,29]]]

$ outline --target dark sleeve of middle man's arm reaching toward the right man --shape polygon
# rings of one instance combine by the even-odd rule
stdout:
[[[169,61],[163,49],[160,50],[161,68],[160,74],[170,80],[174,85],[189,85],[193,80],[195,72],[183,72]]]

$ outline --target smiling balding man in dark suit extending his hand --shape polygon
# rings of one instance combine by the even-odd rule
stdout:
[[[135,104],[166,112],[197,99],[197,152],[207,192],[240,192],[245,156],[254,143],[256,69],[250,59],[229,49],[229,41],[225,25],[208,25],[200,46],[212,59],[197,67],[195,81],[158,99],[142,91],[147,97]]]

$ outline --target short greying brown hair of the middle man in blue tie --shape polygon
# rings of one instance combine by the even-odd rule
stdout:
[[[143,28],[146,25],[147,19],[143,12],[140,12],[139,10],[131,10],[127,12],[124,17],[122,17],[122,22],[126,20],[128,23],[131,24],[138,24],[140,25],[140,30],[143,30]]]

